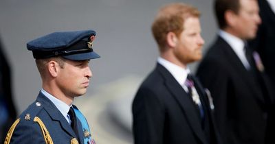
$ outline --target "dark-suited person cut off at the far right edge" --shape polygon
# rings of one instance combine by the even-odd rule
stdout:
[[[250,41],[250,47],[259,51],[265,66],[265,72],[270,76],[275,88],[275,1],[259,0],[262,23],[256,38]]]

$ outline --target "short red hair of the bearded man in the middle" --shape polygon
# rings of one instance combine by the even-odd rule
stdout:
[[[191,16],[199,17],[200,12],[192,5],[185,3],[170,3],[159,9],[151,30],[160,51],[164,51],[168,32],[174,32],[179,37],[179,34],[184,31],[184,21]]]

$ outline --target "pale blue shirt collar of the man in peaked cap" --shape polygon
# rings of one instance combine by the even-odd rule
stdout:
[[[54,103],[54,105],[56,106],[56,108],[61,112],[61,114],[65,117],[65,119],[69,122],[69,119],[67,117],[67,114],[69,112],[69,107],[65,102],[56,99],[56,97],[54,97],[53,95],[51,95],[50,93],[47,93],[47,91],[45,91],[43,88],[41,89],[41,93],[43,93],[43,95],[45,95],[45,97],[47,97],[48,99],[50,99],[50,101],[52,101],[52,103]],[[72,105],[71,105],[72,106]]]

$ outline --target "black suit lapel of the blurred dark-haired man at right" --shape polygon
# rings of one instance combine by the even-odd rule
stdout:
[[[254,97],[256,99],[259,99],[262,104],[264,104],[264,99],[261,97],[261,93],[258,91],[259,88],[256,86],[256,82],[254,80],[254,77],[252,77],[251,73],[248,72],[247,69],[243,66],[243,63],[239,59],[238,56],[236,56],[236,53],[232,50],[230,45],[225,42],[222,38],[218,38],[217,40],[218,45],[223,45],[223,52],[224,56],[228,59],[228,62],[230,62],[231,66],[233,67],[234,71],[237,71],[237,73],[241,73],[241,77],[243,80],[245,80],[245,84],[248,84],[250,87],[250,90],[255,93]],[[240,78],[241,78],[240,77]]]

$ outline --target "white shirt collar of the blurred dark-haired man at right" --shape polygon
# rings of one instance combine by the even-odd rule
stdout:
[[[221,29],[219,30],[219,36],[221,36],[221,38],[223,38],[223,40],[225,40],[230,45],[230,47],[236,53],[236,56],[238,56],[241,62],[243,63],[245,69],[250,69],[250,64],[248,63],[248,60],[245,57],[245,43],[243,42],[243,40]]]

